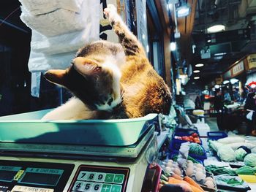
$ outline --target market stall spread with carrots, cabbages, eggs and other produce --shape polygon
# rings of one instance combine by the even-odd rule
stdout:
[[[173,131],[169,155],[159,161],[159,191],[255,191],[256,139],[198,129]]]

